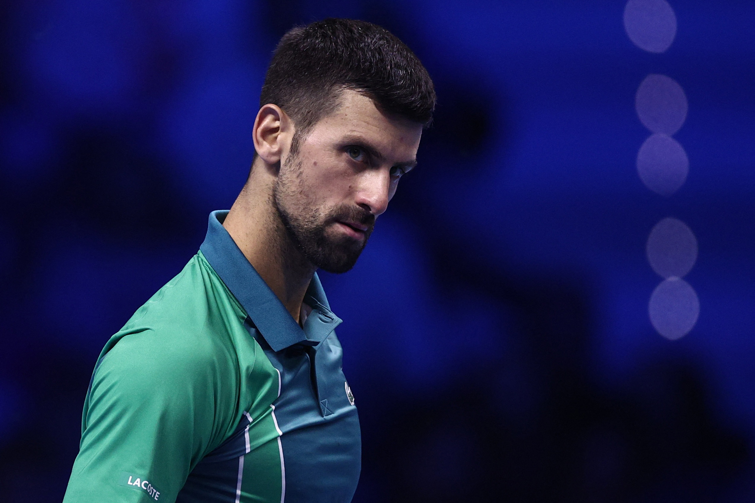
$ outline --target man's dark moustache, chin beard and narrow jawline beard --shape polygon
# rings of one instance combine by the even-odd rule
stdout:
[[[281,204],[282,192],[280,184],[276,183],[273,204],[294,247],[309,262],[324,271],[340,274],[353,268],[374,228],[374,215],[361,207],[347,204],[335,207],[325,216],[317,209],[310,210],[307,214],[293,215]],[[326,230],[334,222],[359,222],[367,225],[364,240],[358,241],[346,235],[329,238]]]

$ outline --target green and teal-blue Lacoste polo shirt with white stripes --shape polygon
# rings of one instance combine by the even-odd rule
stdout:
[[[213,212],[174,279],[103,348],[64,501],[350,501],[361,447],[315,277],[299,327]]]

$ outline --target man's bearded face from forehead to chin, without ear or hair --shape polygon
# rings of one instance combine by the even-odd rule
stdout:
[[[416,164],[422,126],[384,115],[353,90],[283,161],[273,192],[279,216],[304,256],[346,272],[388,207],[399,178]]]

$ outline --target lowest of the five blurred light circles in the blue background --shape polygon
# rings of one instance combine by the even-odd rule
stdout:
[[[686,336],[700,314],[695,290],[681,278],[668,278],[655,287],[648,308],[650,323],[666,339]]]

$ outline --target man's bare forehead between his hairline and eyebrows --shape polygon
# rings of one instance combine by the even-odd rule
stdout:
[[[314,125],[307,143],[359,137],[375,143],[384,155],[404,156],[408,151],[416,153],[421,136],[422,124],[381,112],[370,98],[347,89],[341,92],[337,109]]]

